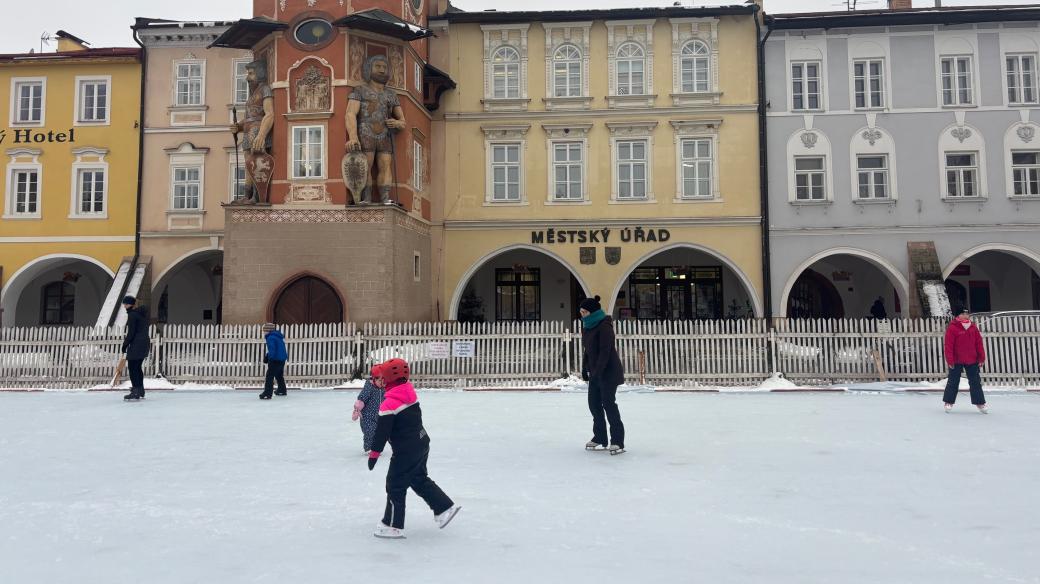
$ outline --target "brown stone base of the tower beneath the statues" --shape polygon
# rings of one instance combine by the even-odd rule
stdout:
[[[430,224],[391,206],[225,209],[226,324],[271,320],[301,276],[332,286],[349,322],[432,318]]]

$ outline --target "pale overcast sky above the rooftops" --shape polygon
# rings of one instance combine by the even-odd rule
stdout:
[[[41,36],[53,36],[66,30],[94,47],[133,47],[130,25],[134,17],[171,20],[237,20],[252,16],[252,0],[0,0],[4,6],[0,53],[41,51]],[[302,0],[293,0],[302,2]],[[428,0],[427,0],[428,1]],[[580,8],[622,8],[633,6],[670,6],[675,0],[452,0],[464,10],[549,10]],[[685,5],[743,3],[743,0],[680,0]],[[859,0],[860,8],[882,8],[885,0]],[[1026,4],[1022,0],[944,0],[944,5]],[[914,0],[918,7],[931,6],[931,0]],[[770,12],[801,12],[844,9],[842,0],[765,0]],[[53,51],[55,45],[43,46]]]

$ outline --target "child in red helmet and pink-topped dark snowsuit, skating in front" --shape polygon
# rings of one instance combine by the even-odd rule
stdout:
[[[375,528],[376,537],[405,536],[405,498],[412,488],[434,511],[434,521],[443,529],[462,509],[426,474],[430,435],[422,427],[422,409],[415,388],[408,381],[409,367],[402,359],[391,359],[380,367],[386,382],[386,395],[380,405],[380,421],[368,454],[368,470],[387,442],[393,447],[387,470],[387,506],[383,521]]]

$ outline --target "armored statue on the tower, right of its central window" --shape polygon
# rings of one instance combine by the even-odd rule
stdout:
[[[389,204],[394,163],[392,130],[406,127],[405,110],[397,94],[387,87],[390,61],[385,56],[369,57],[362,68],[362,79],[364,83],[354,88],[346,102],[346,150],[364,153],[367,162],[368,181],[361,202],[372,203],[373,187],[379,187],[380,203]],[[371,171],[373,162],[376,172]]]

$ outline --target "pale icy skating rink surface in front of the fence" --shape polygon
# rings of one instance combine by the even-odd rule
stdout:
[[[1040,582],[1036,394],[420,393],[463,505],[372,537],[353,392],[0,393],[0,582]]]

